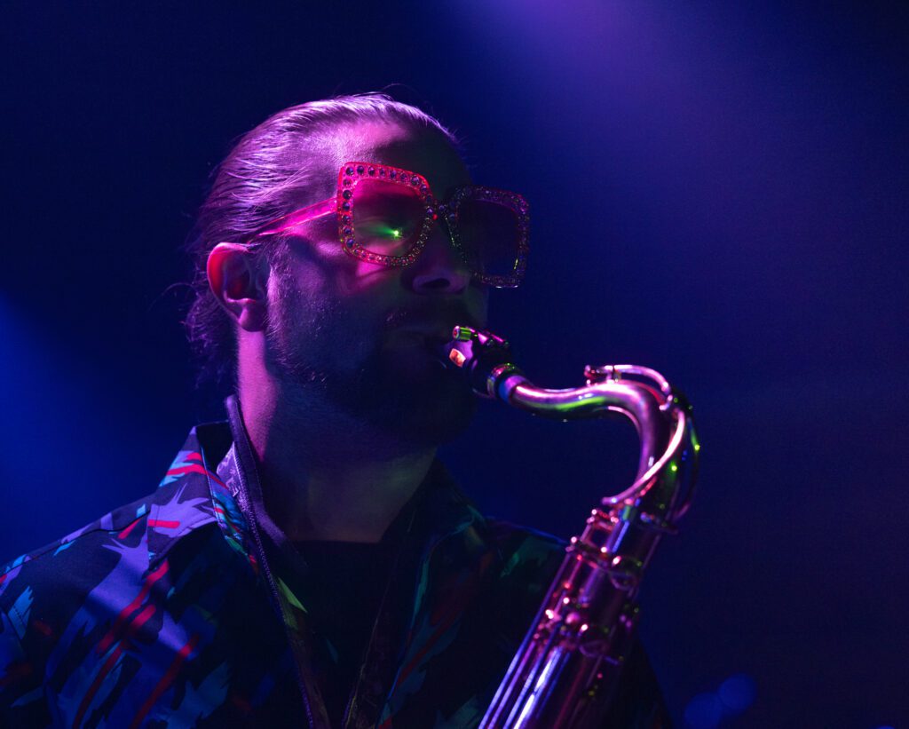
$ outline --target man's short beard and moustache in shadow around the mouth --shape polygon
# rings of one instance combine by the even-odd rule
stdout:
[[[366,321],[340,298],[307,301],[291,276],[280,275],[277,290],[266,331],[268,365],[301,405],[317,404],[313,417],[336,409],[403,448],[448,442],[470,424],[476,398],[460,373],[435,359],[428,339],[395,340],[401,326],[461,321],[460,312],[395,309]]]

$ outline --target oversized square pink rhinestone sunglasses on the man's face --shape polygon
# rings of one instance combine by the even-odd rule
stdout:
[[[480,282],[514,288],[524,277],[530,208],[524,197],[465,185],[438,200],[423,175],[367,162],[347,162],[337,193],[264,225],[243,243],[255,245],[316,218],[335,214],[347,255],[377,265],[415,262],[435,225],[444,225],[464,265]]]

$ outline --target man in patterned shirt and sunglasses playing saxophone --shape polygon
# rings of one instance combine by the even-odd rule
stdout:
[[[520,283],[528,221],[382,95],[242,137],[186,319],[226,421],[153,493],[6,565],[0,724],[477,725],[564,544],[479,514],[438,462],[474,395],[433,353]],[[609,724],[668,725],[640,646]]]

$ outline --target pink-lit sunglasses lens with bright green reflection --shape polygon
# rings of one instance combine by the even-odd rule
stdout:
[[[405,255],[420,235],[425,207],[416,191],[385,180],[354,188],[354,235],[370,253]]]

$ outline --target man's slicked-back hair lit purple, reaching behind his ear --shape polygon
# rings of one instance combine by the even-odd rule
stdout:
[[[218,304],[205,274],[212,248],[221,242],[237,242],[285,215],[305,199],[307,192],[315,194],[331,185],[316,199],[330,196],[336,171],[326,169],[331,161],[326,159],[325,138],[339,127],[363,121],[435,129],[458,146],[452,132],[415,106],[384,94],[338,96],[291,106],[269,116],[240,137],[215,169],[187,245],[194,275],[185,327],[200,360],[200,384],[210,381],[233,386],[236,379],[235,324]],[[279,251],[279,246],[265,245],[258,255],[276,256]]]

